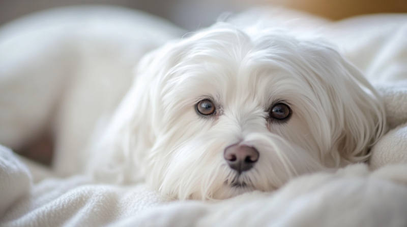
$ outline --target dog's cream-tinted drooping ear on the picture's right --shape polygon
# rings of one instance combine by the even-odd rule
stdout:
[[[386,130],[381,95],[363,73],[344,59],[332,45],[317,50],[321,80],[331,101],[331,150],[336,166],[367,161],[370,147]]]

